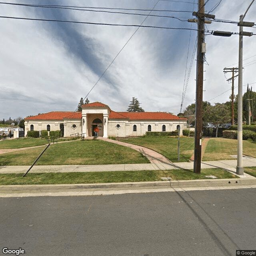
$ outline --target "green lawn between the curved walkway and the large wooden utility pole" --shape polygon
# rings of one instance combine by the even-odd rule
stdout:
[[[144,146],[164,155],[172,162],[178,162],[178,138],[140,137],[120,141]],[[180,138],[180,162],[188,162],[194,153],[194,138]]]

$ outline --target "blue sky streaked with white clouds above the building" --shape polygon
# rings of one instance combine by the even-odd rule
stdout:
[[[180,112],[194,103],[196,94],[196,23],[187,22],[198,10],[197,0],[3,0],[8,3],[65,5],[168,17],[92,12],[63,8],[39,8],[0,4],[0,16],[68,20],[108,24],[160,26],[180,29],[106,26],[0,18],[0,119],[26,117],[50,111],[74,111],[88,95],[115,111],[126,111],[132,97],[146,111]],[[194,4],[195,2],[195,4]],[[220,4],[218,5],[218,3]],[[205,11],[222,20],[238,21],[251,0],[208,0]],[[156,6],[155,6],[156,5]],[[154,7],[155,6],[155,7]],[[145,9],[116,10],[92,7]],[[81,9],[81,8],[78,8]],[[169,11],[167,11],[169,10]],[[182,12],[170,12],[182,11]],[[256,2],[245,21],[256,22]],[[178,20],[179,18],[180,20]],[[181,29],[181,28],[186,28]],[[256,27],[244,28],[256,33]],[[206,30],[238,32],[236,24],[212,22]],[[132,36],[134,34],[134,36]],[[208,34],[208,33],[206,33]],[[131,38],[132,36],[132,38]],[[129,40],[130,39],[130,40]],[[128,41],[129,40],[129,41]],[[226,102],[231,84],[225,67],[238,66],[238,35],[229,38],[207,35],[204,65],[204,100]],[[127,44],[126,44],[127,43]],[[126,44],[126,45],[125,45]],[[256,91],[256,36],[244,36],[243,84]],[[190,63],[193,60],[190,76]],[[188,79],[188,83],[186,82]],[[235,80],[237,94],[238,79]],[[228,90],[228,91],[227,91]],[[243,91],[246,86],[243,87]],[[227,91],[227,92],[226,92]]]

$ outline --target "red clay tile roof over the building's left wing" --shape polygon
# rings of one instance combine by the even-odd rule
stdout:
[[[63,120],[63,118],[82,118],[82,112],[59,112],[53,111],[37,116],[24,118],[25,120]]]

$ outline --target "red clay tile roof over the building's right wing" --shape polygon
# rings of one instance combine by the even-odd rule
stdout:
[[[120,117],[118,117],[118,114],[120,115]],[[125,119],[125,117],[130,120],[186,120],[186,118],[178,117],[166,112],[114,112],[114,111],[111,111],[108,118]]]

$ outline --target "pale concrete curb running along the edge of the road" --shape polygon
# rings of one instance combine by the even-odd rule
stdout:
[[[1,185],[0,193],[97,190],[97,189],[127,189],[127,188],[153,188],[153,187],[207,187],[207,186],[234,186],[256,185],[256,178],[244,179],[215,179],[215,180],[170,180],[153,182],[121,182],[96,184],[49,184],[49,185]]]

